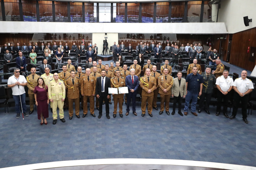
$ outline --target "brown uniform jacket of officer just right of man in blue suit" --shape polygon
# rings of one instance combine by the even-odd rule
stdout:
[[[147,80],[147,75],[141,76],[140,78],[140,87],[142,88],[142,96],[152,96],[154,95],[153,91],[156,87],[156,81],[154,76],[149,76],[149,81]],[[148,90],[151,90],[151,93],[147,93]]]

